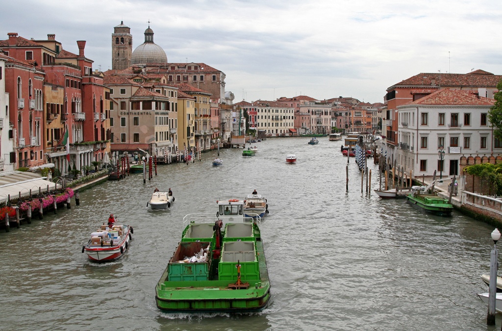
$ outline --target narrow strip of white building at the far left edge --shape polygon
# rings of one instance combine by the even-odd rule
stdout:
[[[7,58],[0,54],[0,171],[14,170],[14,140],[9,119],[9,93],[5,92],[5,62]]]

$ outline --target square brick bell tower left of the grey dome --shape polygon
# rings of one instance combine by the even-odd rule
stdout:
[[[129,68],[132,55],[133,35],[131,28],[120,21],[120,24],[113,28],[111,34],[111,68],[114,70]]]

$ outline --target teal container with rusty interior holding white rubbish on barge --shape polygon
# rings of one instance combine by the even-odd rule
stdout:
[[[200,250],[210,246],[209,242],[186,242],[180,243],[174,252],[173,257],[169,260],[168,276],[169,281],[193,281],[193,280],[208,280],[209,268],[211,264],[211,248],[204,251],[208,252],[207,262],[178,262],[184,261],[186,258],[200,253]]]

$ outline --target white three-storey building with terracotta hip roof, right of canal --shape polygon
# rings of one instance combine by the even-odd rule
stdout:
[[[502,153],[502,142],[493,139],[487,117],[493,103],[477,91],[442,89],[398,106],[399,169],[404,167],[413,177],[432,176],[434,170],[458,176],[461,159]]]

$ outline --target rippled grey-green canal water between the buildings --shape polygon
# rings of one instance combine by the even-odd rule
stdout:
[[[360,173],[340,142],[275,138],[216,151],[201,161],[159,166],[158,176],[106,182],[80,205],[0,233],[0,329],[41,330],[473,330],[486,326],[476,293],[489,271],[493,227],[454,211],[433,216],[405,200],[361,193]],[[247,145],[249,146],[249,145]],[[246,146],[246,147],[247,147]],[[296,164],[287,164],[294,153]],[[377,166],[371,188],[378,188]],[[168,210],[146,207],[155,187],[171,188]],[[188,213],[216,212],[216,200],[258,190],[270,214],[261,223],[272,283],[260,313],[166,313],[155,285]],[[81,253],[90,233],[114,213],[134,228],[120,260],[96,264]]]

